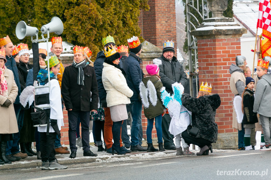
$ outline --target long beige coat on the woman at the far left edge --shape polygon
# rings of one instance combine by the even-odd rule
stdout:
[[[0,95],[0,105],[3,105],[7,99],[9,99],[12,104],[8,107],[0,106],[0,134],[12,134],[19,132],[13,106],[13,103],[15,102],[16,96],[18,94],[18,87],[15,83],[13,72],[11,70],[6,68],[4,76],[8,83],[8,98]]]

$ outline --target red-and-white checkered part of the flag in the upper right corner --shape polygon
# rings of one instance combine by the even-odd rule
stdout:
[[[260,0],[257,28],[271,32],[271,4],[270,0]]]

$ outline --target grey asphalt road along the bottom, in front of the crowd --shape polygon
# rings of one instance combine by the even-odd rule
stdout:
[[[209,156],[173,156],[124,162],[69,165],[66,170],[5,170],[1,180],[271,179],[271,151],[214,151]]]

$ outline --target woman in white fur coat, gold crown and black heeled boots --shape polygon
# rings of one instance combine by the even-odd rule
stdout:
[[[106,59],[103,63],[102,81],[106,90],[106,103],[110,108],[111,119],[113,121],[112,134],[114,143],[112,145],[112,154],[114,150],[118,154],[125,154],[120,147],[120,133],[123,120],[128,119],[126,104],[130,104],[130,97],[133,91],[128,87],[125,79],[125,72],[119,66],[120,54],[113,47],[105,49]]]

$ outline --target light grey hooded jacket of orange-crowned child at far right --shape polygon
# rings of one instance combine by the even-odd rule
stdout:
[[[263,75],[257,83],[255,91],[255,100],[253,105],[253,112],[260,115],[271,117],[271,75]]]

